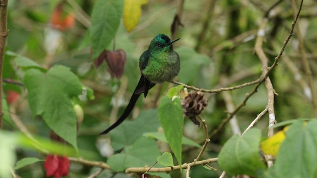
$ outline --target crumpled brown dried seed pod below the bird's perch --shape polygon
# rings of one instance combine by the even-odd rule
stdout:
[[[184,114],[195,124],[200,125],[196,119],[207,106],[208,101],[204,99],[204,93],[201,91],[191,91],[181,102]]]

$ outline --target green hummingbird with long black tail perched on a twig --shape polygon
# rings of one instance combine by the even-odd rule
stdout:
[[[151,41],[148,50],[144,51],[139,59],[141,78],[129,104],[119,119],[101,134],[107,134],[120,125],[129,116],[142,93],[144,93],[145,98],[149,90],[157,83],[171,82],[178,75],[180,60],[172,45],[178,40],[171,41],[168,36],[159,34]]]

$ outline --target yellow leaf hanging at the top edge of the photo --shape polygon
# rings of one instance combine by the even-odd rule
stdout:
[[[123,24],[128,32],[131,32],[138,24],[142,10],[141,6],[148,0],[124,0]]]

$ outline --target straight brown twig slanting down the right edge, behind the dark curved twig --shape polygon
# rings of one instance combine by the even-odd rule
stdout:
[[[295,15],[296,13],[296,2],[295,0],[291,0],[291,5],[292,5],[292,10],[293,13]],[[311,102],[314,106],[315,109],[315,116],[317,116],[317,99],[316,99],[316,89],[314,86],[314,79],[313,79],[313,74],[312,74],[312,70],[309,64],[309,61],[307,59],[307,55],[306,55],[306,51],[305,51],[305,46],[304,46],[304,38],[301,34],[301,29],[299,24],[296,24],[295,26],[296,31],[297,31],[297,39],[298,39],[298,43],[299,43],[299,50],[301,52],[301,59],[302,59],[302,64],[304,66],[304,71],[308,80],[308,86],[311,90]]]

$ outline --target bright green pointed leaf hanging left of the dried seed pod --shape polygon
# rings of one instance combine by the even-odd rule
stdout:
[[[182,137],[184,117],[180,98],[173,101],[164,96],[159,104],[159,123],[164,130],[164,135],[171,147],[178,164],[182,164]]]

